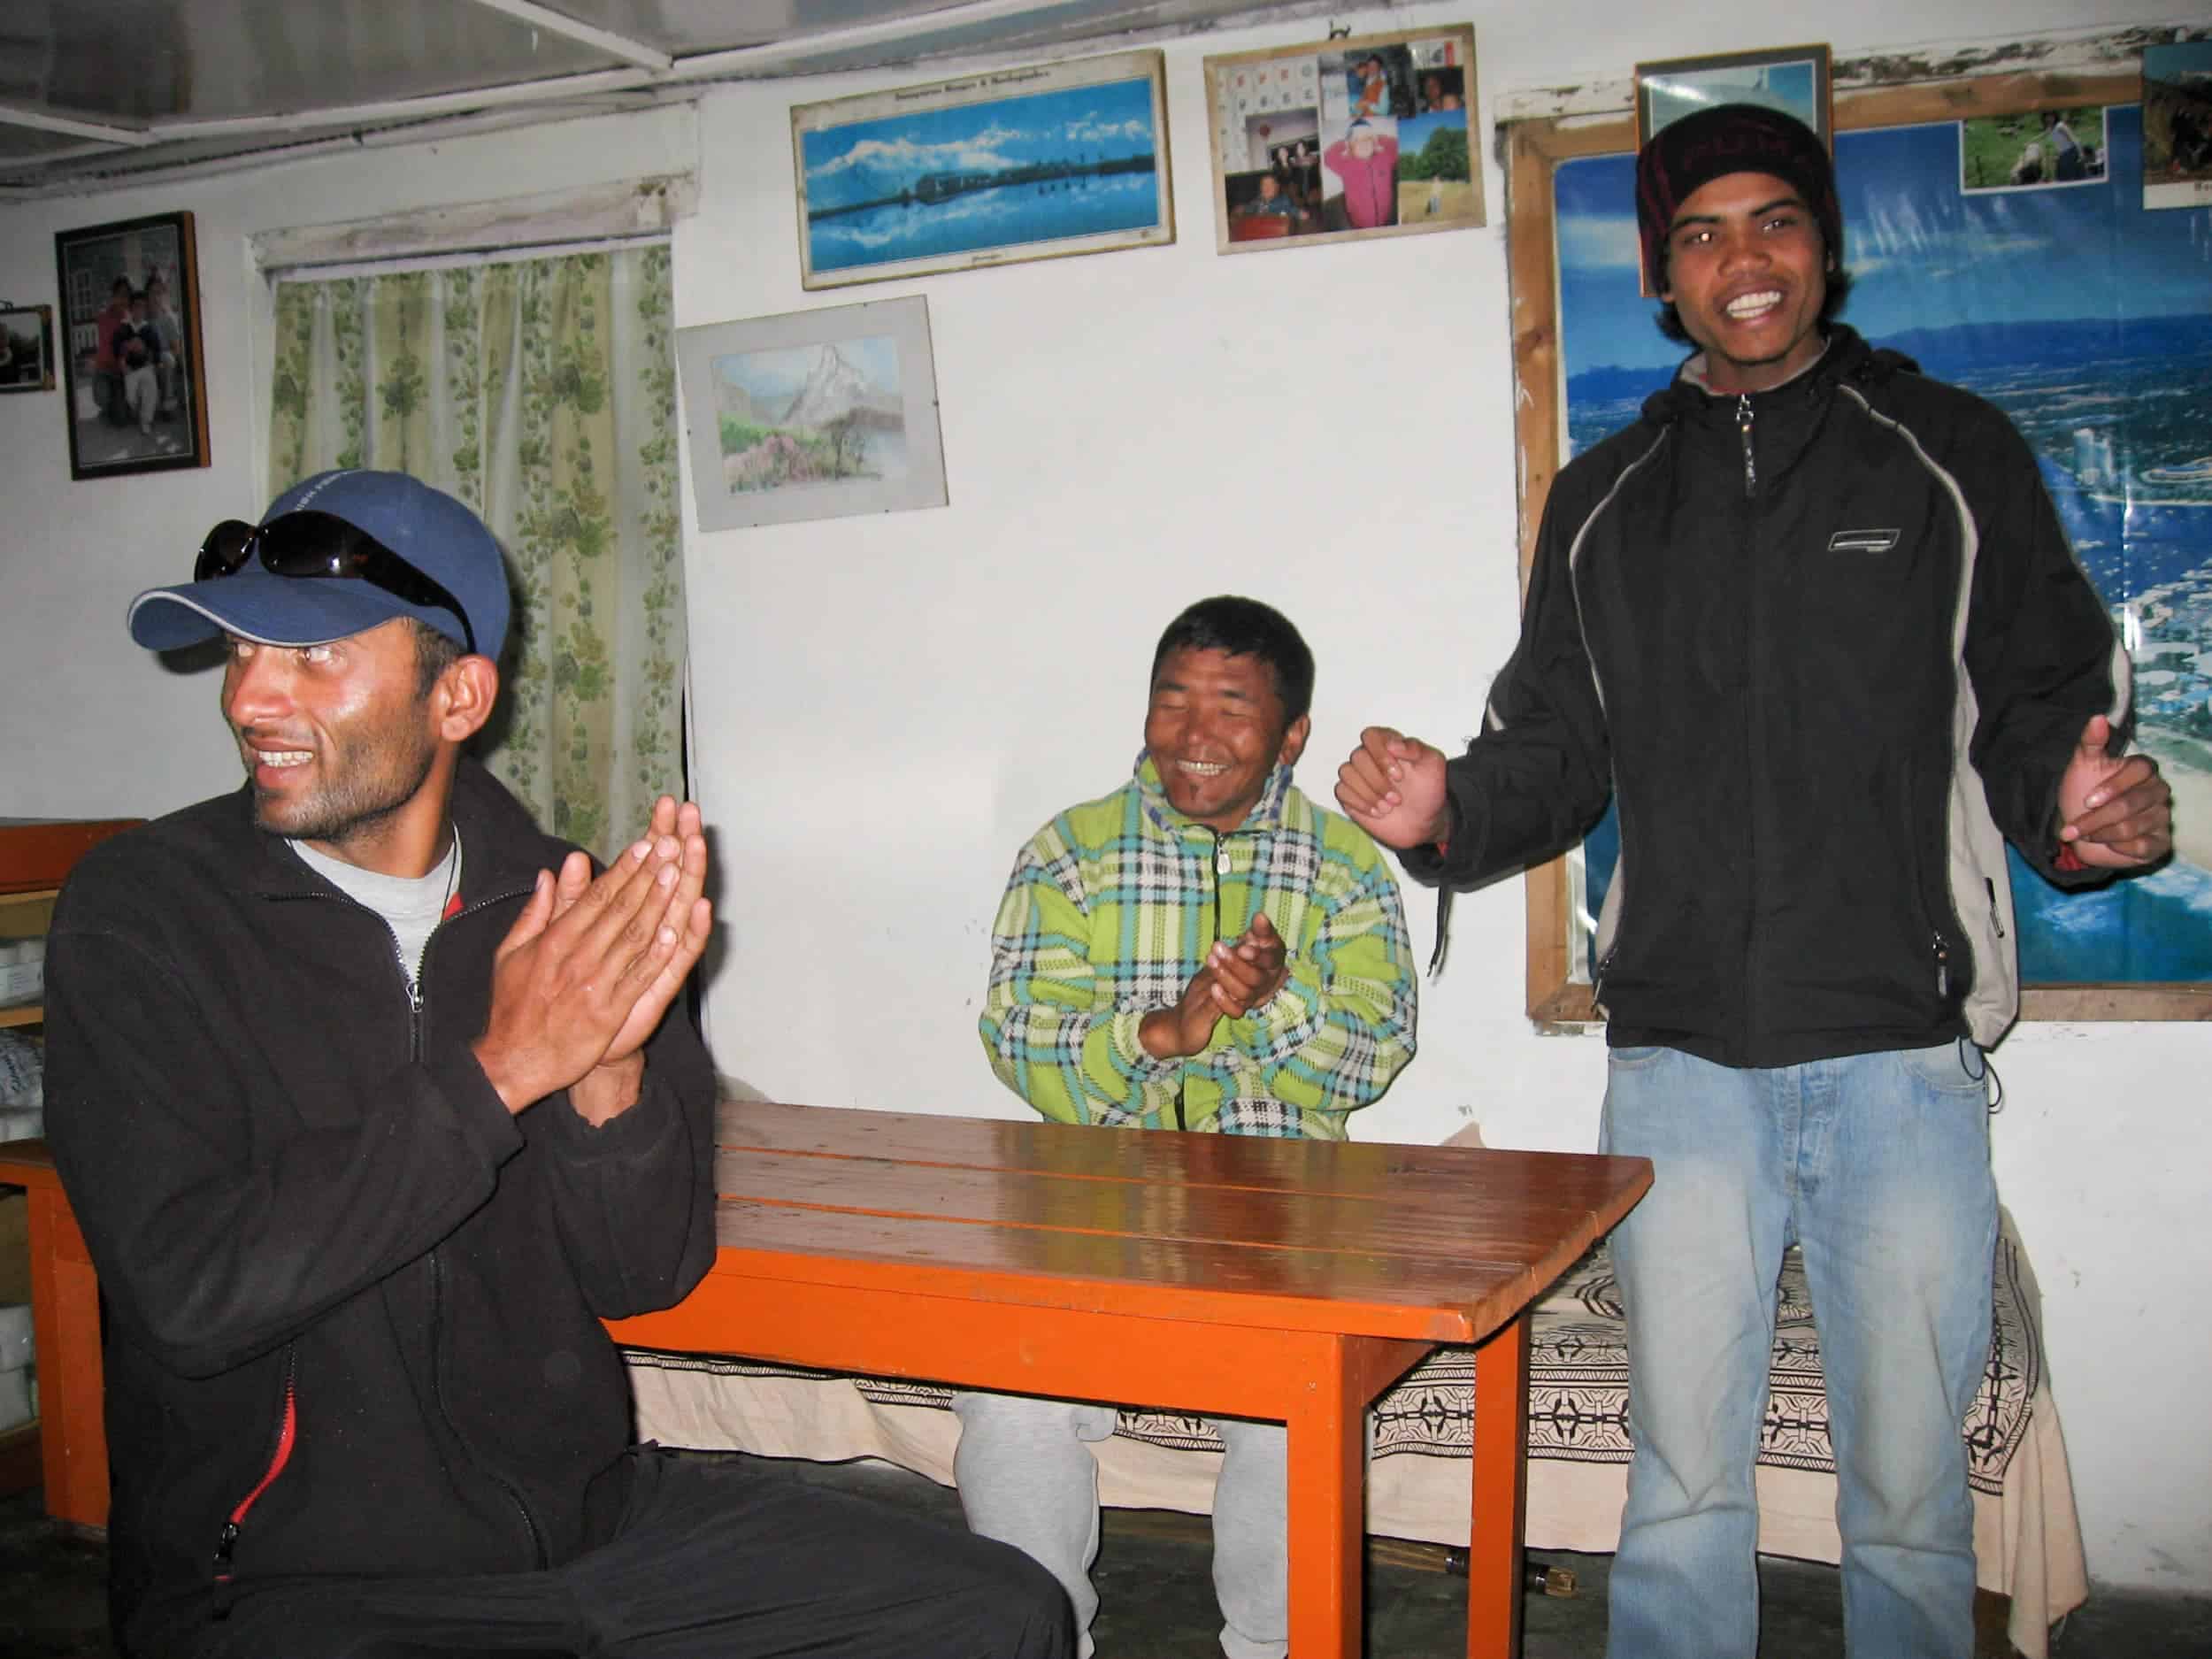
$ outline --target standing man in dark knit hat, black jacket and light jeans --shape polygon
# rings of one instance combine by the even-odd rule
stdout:
[[[1781,1254],[1827,1378],[1845,1630],[1969,1659],[1960,1418],[1989,1356],[1982,1048],[2017,1013],[2004,841],[2081,883],[2161,858],[2128,659],[2028,447],[1832,319],[1825,146],[1752,106],[1637,161],[1692,356],[1568,465],[1522,639],[1464,757],[1369,728],[1338,801],[1471,887],[1619,803],[1599,918],[1601,1146],[1657,1181],[1613,1234],[1635,1462],[1615,1659],[1750,1659],[1752,1464]]]

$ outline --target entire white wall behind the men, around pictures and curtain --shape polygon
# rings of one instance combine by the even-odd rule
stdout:
[[[1489,111],[1504,91],[1639,58],[1836,27],[1851,55],[2168,13],[1867,0],[1847,20],[1776,24],[1741,0],[1478,0],[1345,20],[1469,15]],[[717,1060],[787,1099],[1020,1115],[973,1035],[991,907],[1042,818],[1126,774],[1150,641],[1177,608],[1241,591],[1301,622],[1321,657],[1301,776],[1321,799],[1369,719],[1447,743],[1469,732],[1513,641],[1495,168],[1489,230],[1212,250],[1199,60],[1316,33],[1296,22],[1168,49],[1177,246],[918,283],[805,294],[787,168],[790,102],[929,77],[914,73],[717,88],[697,153],[679,115],[655,115],[0,210],[0,294],[24,301],[51,296],[55,228],[192,208],[217,365],[206,473],[71,484],[58,398],[0,398],[0,664],[20,710],[0,737],[0,812],[153,812],[234,779],[212,686],[166,677],[119,622],[133,591],[181,575],[208,522],[261,502],[265,367],[248,334],[265,305],[248,232],[697,161],[677,321],[927,294],[951,487],[940,511],[688,535],[697,790],[726,883]],[[1431,902],[1411,894],[1409,909],[1425,953]],[[1460,900],[1451,971],[1425,987],[1422,1055],[1356,1124],[1363,1137],[1436,1141],[1473,1117],[1495,1146],[1593,1144],[1601,1042],[1531,1033],[1522,929],[1520,883]],[[2044,1285],[2090,1571],[2212,1590],[2212,1455],[2170,1371],[2146,1385],[2112,1358],[2150,1312],[2199,1301],[2212,1035],[2031,1029],[1997,1064],[1997,1170]]]

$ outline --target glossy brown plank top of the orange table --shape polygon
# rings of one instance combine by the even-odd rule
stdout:
[[[723,1102],[719,1270],[918,1296],[1475,1343],[1646,1159],[1115,1133]]]

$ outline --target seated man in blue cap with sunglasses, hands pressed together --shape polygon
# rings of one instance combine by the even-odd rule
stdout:
[[[100,847],[49,936],[124,1648],[1066,1655],[1006,1546],[628,1444],[599,1321],[714,1254],[708,852],[661,799],[595,876],[462,759],[507,622],[476,513],[372,471],[131,606],[228,637],[248,783]]]

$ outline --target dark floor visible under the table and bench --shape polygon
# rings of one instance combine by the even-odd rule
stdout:
[[[960,1500],[885,1464],[785,1464],[805,1480],[869,1491],[960,1524]],[[1099,1551],[1099,1659],[1214,1659],[1203,1517],[1108,1511]],[[1575,1577],[1571,1597],[1531,1595],[1522,1659],[1595,1659],[1606,1646],[1606,1555],[1540,1553]],[[1467,1646],[1467,1582],[1444,1551],[1380,1540],[1367,1564],[1369,1659],[1447,1659]],[[1836,1573],[1805,1562],[1763,1564],[1767,1659],[1840,1659]],[[1995,1606],[1995,1604],[1991,1604]],[[0,1498],[0,1655],[113,1659],[106,1639],[106,1551],[64,1537],[38,1491]],[[1986,1648],[2002,1655],[2002,1646]],[[2053,1659],[2208,1659],[2212,1599],[2148,1590],[2090,1597],[2051,1644]],[[887,1655],[896,1659],[896,1655]]]

